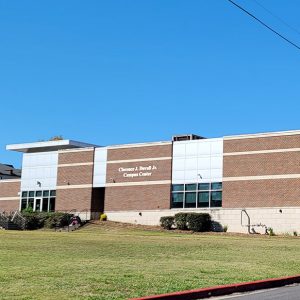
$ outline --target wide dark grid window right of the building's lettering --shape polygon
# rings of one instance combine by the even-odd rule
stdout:
[[[171,208],[222,207],[222,182],[173,184]]]

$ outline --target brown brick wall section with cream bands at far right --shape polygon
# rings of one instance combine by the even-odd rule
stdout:
[[[224,139],[223,207],[300,206],[300,151],[289,150],[295,148],[300,135]],[[283,150],[247,153],[276,149]],[[244,153],[226,155],[233,152]]]

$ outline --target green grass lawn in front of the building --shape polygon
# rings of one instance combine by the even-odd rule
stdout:
[[[71,233],[0,231],[0,299],[127,299],[298,273],[294,237],[108,223]]]

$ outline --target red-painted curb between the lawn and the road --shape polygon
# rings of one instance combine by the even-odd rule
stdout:
[[[203,299],[213,296],[225,296],[233,293],[250,292],[260,289],[268,289],[274,287],[280,287],[293,283],[300,283],[300,275],[272,278],[265,280],[256,280],[251,282],[235,283],[213,286],[209,288],[187,290],[169,294],[161,294],[156,296],[147,296],[141,298],[132,298],[130,300],[192,300]]]

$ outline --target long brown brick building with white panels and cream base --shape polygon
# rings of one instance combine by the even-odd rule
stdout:
[[[21,179],[0,180],[0,211],[106,212],[158,224],[209,212],[229,231],[300,230],[300,131],[99,147],[71,140],[7,146]]]

